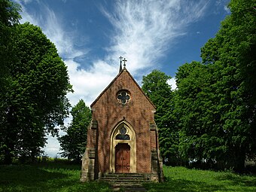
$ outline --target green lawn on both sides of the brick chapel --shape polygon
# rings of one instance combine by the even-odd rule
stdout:
[[[256,191],[256,175],[163,167],[166,182],[145,184],[148,191]],[[80,165],[44,163],[0,166],[0,192],[5,191],[111,191],[108,184],[81,183]]]

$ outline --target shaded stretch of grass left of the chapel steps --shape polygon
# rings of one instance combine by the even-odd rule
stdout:
[[[43,163],[0,166],[0,192],[5,191],[111,191],[108,184],[81,183],[80,165]]]

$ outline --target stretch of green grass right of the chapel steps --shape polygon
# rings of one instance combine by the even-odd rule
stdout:
[[[256,191],[256,175],[166,166],[163,167],[163,172],[166,181],[145,184],[148,191]]]

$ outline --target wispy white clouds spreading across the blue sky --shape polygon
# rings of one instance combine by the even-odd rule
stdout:
[[[65,1],[64,1],[65,2]],[[186,27],[203,17],[209,1],[195,2],[166,0],[166,1],[117,1],[111,13],[102,8],[102,13],[108,18],[114,28],[109,37],[111,44],[107,49],[108,56],[88,63],[76,62],[79,56],[90,55],[90,47],[75,48],[78,41],[75,32],[66,31],[65,20],[56,15],[50,8],[38,1],[40,10],[37,14],[28,13],[23,6],[23,20],[41,26],[43,32],[56,44],[60,56],[68,66],[70,82],[75,93],[69,93],[72,105],[79,99],[84,99],[87,105],[111,82],[118,72],[118,57],[128,59],[127,69],[134,75],[142,75],[152,68],[156,68],[157,59],[164,56],[166,50],[175,44],[178,36],[186,33]],[[42,13],[40,15],[40,13]],[[76,24],[76,23],[75,23]],[[78,23],[81,24],[81,23]],[[74,25],[74,23],[73,23]],[[113,60],[117,61],[113,63]],[[115,66],[114,66],[115,64]],[[175,88],[174,79],[169,81]],[[49,137],[46,153],[54,157],[59,151],[56,139]]]

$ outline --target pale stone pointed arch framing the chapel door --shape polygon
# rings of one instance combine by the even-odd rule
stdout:
[[[129,136],[126,139],[120,139],[120,129],[126,128],[126,135]],[[115,147],[118,143],[127,143],[130,146],[130,172],[136,172],[136,133],[133,130],[133,126],[126,120],[121,120],[114,126],[110,138],[110,172],[115,172]]]

